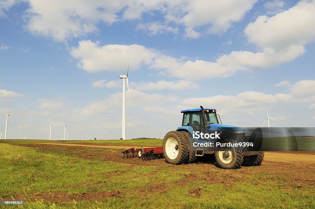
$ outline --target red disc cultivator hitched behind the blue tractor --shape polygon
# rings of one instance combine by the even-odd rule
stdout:
[[[123,158],[134,158],[139,157],[142,161],[151,161],[163,158],[163,148],[153,147],[153,148],[130,148],[128,150],[122,151]]]

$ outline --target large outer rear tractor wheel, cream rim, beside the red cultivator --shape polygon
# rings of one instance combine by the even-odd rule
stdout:
[[[179,131],[170,131],[163,140],[163,153],[165,160],[174,165],[187,161],[189,146],[186,137]]]

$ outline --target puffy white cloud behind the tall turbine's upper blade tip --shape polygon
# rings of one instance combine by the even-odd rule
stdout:
[[[88,41],[79,42],[77,48],[72,48],[72,57],[80,59],[78,67],[88,72],[125,71],[127,70],[130,53],[130,69],[138,70],[140,64],[150,64],[155,52],[137,44],[105,45]]]

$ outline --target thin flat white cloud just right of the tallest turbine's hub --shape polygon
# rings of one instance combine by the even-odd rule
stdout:
[[[135,89],[141,91],[150,91],[150,90],[162,90],[162,89],[175,89],[175,90],[183,90],[183,89],[196,89],[199,88],[197,83],[192,81],[157,81],[154,82],[141,82],[139,84],[134,84]]]

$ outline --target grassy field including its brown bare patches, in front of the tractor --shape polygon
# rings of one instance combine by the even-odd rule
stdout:
[[[237,170],[214,163],[174,166],[164,159],[123,160],[110,149],[35,144],[43,142],[162,144],[158,139],[0,140],[0,199],[25,200],[20,208],[315,208],[313,165],[285,166],[283,172],[274,172],[272,161]],[[305,179],[291,178],[301,175],[296,172]]]

